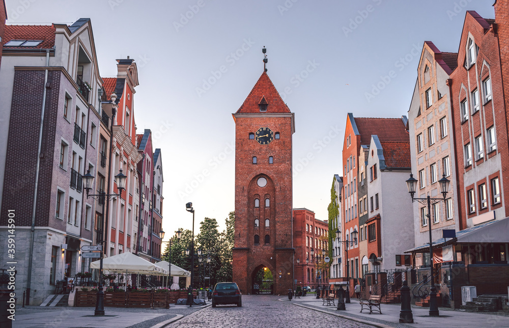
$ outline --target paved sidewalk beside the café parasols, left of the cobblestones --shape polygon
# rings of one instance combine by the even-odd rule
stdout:
[[[17,308],[13,328],[151,328],[160,327],[210,306],[172,305],[167,309],[105,308],[105,316],[94,316],[94,308]]]

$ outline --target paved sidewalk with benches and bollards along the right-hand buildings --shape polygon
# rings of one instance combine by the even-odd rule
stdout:
[[[288,298],[281,300],[286,300]],[[400,322],[401,304],[382,304],[382,314],[369,310],[360,313],[361,306],[356,298],[351,299],[350,304],[345,304],[345,311],[336,310],[335,306],[323,306],[321,299],[314,295],[307,295],[301,298],[294,298],[291,302],[296,306],[302,306],[319,311],[325,311],[343,318],[362,320],[361,322],[379,327],[509,327],[509,316],[504,313],[466,312],[462,310],[451,310],[450,308],[439,308],[440,317],[430,317],[429,308],[412,306],[414,323],[402,324]],[[337,299],[335,299],[337,305]]]

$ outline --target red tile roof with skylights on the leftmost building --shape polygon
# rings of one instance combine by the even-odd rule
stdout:
[[[56,29],[53,25],[6,25],[2,45],[11,40],[42,41],[36,47],[5,47],[5,49],[49,49],[55,45]]]

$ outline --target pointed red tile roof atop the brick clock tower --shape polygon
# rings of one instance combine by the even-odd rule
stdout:
[[[268,106],[267,111],[263,113],[291,113],[272,84],[269,75],[263,72],[236,114],[260,113],[258,104],[264,97]]]

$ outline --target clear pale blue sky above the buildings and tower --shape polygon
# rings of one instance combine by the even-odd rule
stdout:
[[[196,229],[204,217],[215,217],[222,230],[235,208],[231,114],[263,72],[263,46],[267,73],[295,113],[293,207],[326,220],[333,175],[343,175],[347,113],[407,115],[423,42],[457,52],[466,10],[494,18],[493,2],[6,0],[6,5],[12,24],[91,18],[103,77],[116,75],[116,59],[135,59],[137,133],[151,129],[161,148],[163,229],[173,232],[191,228],[187,202],[193,203]]]

